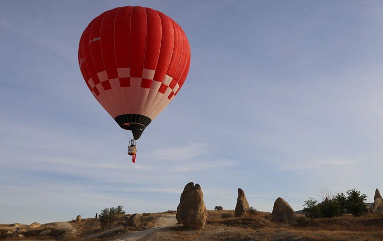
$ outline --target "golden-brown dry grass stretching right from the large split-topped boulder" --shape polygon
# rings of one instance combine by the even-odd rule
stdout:
[[[228,216],[225,218],[225,216]],[[215,233],[211,240],[383,240],[383,215],[368,214],[361,217],[344,215],[333,218],[307,218],[297,215],[291,224],[271,222],[271,213],[256,211],[244,217],[234,217],[234,211],[208,211],[207,224],[237,227]],[[253,232],[238,228],[252,229]],[[255,232],[254,232],[255,230]]]

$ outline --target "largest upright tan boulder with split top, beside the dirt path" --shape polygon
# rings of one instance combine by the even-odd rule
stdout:
[[[176,218],[179,223],[192,229],[201,229],[206,223],[207,210],[201,186],[193,182],[186,184],[181,193]]]

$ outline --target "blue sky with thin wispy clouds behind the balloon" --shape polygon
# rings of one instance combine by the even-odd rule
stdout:
[[[126,154],[128,137],[78,66],[88,23],[117,6],[162,11],[191,46],[188,77]],[[234,209],[271,211],[383,188],[383,2],[0,1],[0,223],[106,207],[175,210],[199,183]]]

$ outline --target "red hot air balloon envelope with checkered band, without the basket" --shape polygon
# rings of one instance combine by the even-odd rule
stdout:
[[[162,12],[117,7],[85,28],[79,64],[96,99],[138,139],[185,82],[190,45],[182,28]]]

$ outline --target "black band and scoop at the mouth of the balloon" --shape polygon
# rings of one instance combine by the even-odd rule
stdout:
[[[114,118],[123,129],[132,130],[134,139],[140,138],[142,132],[152,120],[142,114],[121,114]],[[129,125],[125,125],[129,124]]]

